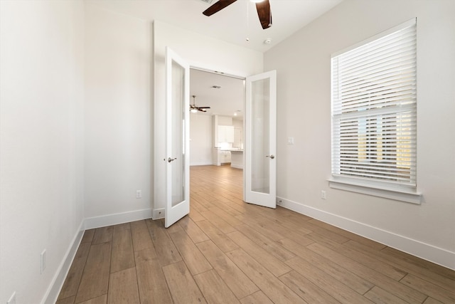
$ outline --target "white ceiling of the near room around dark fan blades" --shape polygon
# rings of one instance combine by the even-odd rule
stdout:
[[[262,29],[255,4],[237,0],[212,16],[202,14],[211,4],[202,0],[85,0],[110,11],[135,16],[146,21],[159,20],[264,52],[291,36],[341,0],[269,0],[272,27]],[[217,0],[213,0],[214,4]],[[248,16],[248,18],[247,18]],[[246,41],[250,38],[250,41]],[[271,44],[264,40],[272,39]]]

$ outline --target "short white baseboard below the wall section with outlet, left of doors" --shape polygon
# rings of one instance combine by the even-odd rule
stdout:
[[[104,216],[94,216],[85,219],[85,229],[95,229],[105,226],[128,223],[129,221],[139,221],[141,219],[151,219],[152,209],[142,209],[128,211],[118,214],[107,214]]]

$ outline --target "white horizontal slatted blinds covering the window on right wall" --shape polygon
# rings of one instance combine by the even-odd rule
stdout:
[[[416,21],[331,58],[332,174],[416,186]]]

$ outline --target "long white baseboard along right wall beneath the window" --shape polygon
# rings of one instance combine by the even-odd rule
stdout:
[[[347,219],[343,216],[331,214],[311,206],[306,206],[296,201],[283,199],[282,197],[277,197],[277,201],[277,204],[284,208],[296,211],[306,216],[311,216],[319,221],[337,226],[338,228],[353,232],[359,236],[364,236],[367,239],[378,241],[379,243],[383,243],[397,250],[410,253],[413,256],[417,256],[432,263],[437,263],[440,266],[455,270],[454,252],[410,239],[406,236],[400,236],[399,234],[394,234],[390,231],[378,229],[358,221],[353,221],[352,219]]]

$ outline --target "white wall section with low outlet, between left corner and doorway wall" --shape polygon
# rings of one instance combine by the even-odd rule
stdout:
[[[151,28],[149,22],[86,2],[85,217],[89,227],[151,216]],[[137,190],[141,199],[136,198]],[[124,213],[132,217],[114,216]]]

